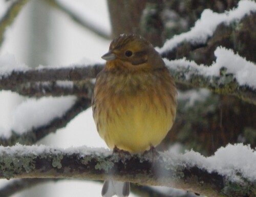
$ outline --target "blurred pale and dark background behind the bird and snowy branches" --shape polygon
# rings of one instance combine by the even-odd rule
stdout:
[[[0,17],[13,2],[0,0]],[[189,31],[204,9],[209,8],[223,13],[236,7],[238,2],[233,0],[24,1],[26,5],[5,33],[0,56],[6,53],[13,54],[17,62],[25,63],[30,67],[103,63],[100,57],[108,51],[112,38],[121,33],[141,34],[154,46],[161,47],[167,38]],[[243,54],[247,60],[255,62],[254,49],[249,48],[247,44],[247,42],[253,43],[254,38],[250,37],[251,39],[246,40],[246,37],[249,37],[248,32],[242,32],[244,34],[241,36],[241,32],[236,32],[234,29],[235,27],[230,29],[220,27],[219,32],[233,31],[233,37],[218,45],[231,48]],[[241,42],[242,46],[238,44]],[[216,47],[212,47],[212,51]],[[186,57],[205,65],[210,65],[215,60],[214,55],[199,57],[198,54],[188,53],[189,50],[195,49],[184,44],[174,54],[167,54],[166,57],[168,59]],[[176,122],[172,132],[158,147],[159,150],[172,149],[183,152],[185,149],[193,148],[202,155],[209,156],[220,146],[228,143],[243,142],[255,147],[255,105],[237,97],[214,94],[206,89],[195,89],[179,83],[177,86],[179,107]],[[25,99],[27,98],[8,91],[0,92],[1,127],[8,128],[13,110]],[[37,144],[63,148],[83,145],[106,147],[96,132],[91,108],[79,114],[66,128],[57,130]],[[0,188],[8,182],[10,181],[0,180]],[[13,196],[100,196],[101,187],[102,183],[98,182],[63,180],[44,183]],[[170,191],[167,188],[161,188],[161,191],[168,193],[165,196],[190,195],[178,190]],[[137,196],[150,196],[148,193],[151,192],[137,192]],[[135,195],[131,194],[131,197],[133,196]]]

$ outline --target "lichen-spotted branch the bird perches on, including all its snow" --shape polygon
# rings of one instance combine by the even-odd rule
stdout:
[[[229,144],[211,157],[193,150],[183,155],[159,152],[155,157],[148,152],[121,159],[103,148],[88,147],[0,147],[0,178],[114,179],[208,196],[255,196],[256,151],[249,146]]]

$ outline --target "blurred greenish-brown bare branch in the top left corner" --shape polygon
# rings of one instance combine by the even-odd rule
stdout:
[[[0,19],[0,47],[4,41],[4,33],[8,26],[10,26],[19,11],[22,10],[23,6],[28,2],[28,0],[17,0],[12,3],[12,5],[8,8],[6,13]]]

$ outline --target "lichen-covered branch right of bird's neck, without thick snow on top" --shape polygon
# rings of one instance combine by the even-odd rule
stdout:
[[[256,105],[256,90],[247,85],[240,85],[232,74],[226,69],[220,70],[219,76],[205,76],[200,74],[200,68],[187,62],[184,67],[178,61],[170,61],[169,71],[175,81],[194,87],[204,87],[218,93],[237,96],[248,103]],[[206,67],[207,68],[207,67]]]

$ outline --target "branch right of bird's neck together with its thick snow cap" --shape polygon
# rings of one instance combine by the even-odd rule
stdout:
[[[222,47],[216,49],[215,56],[216,62],[210,67],[185,58],[164,61],[176,81],[256,104],[256,65]]]

